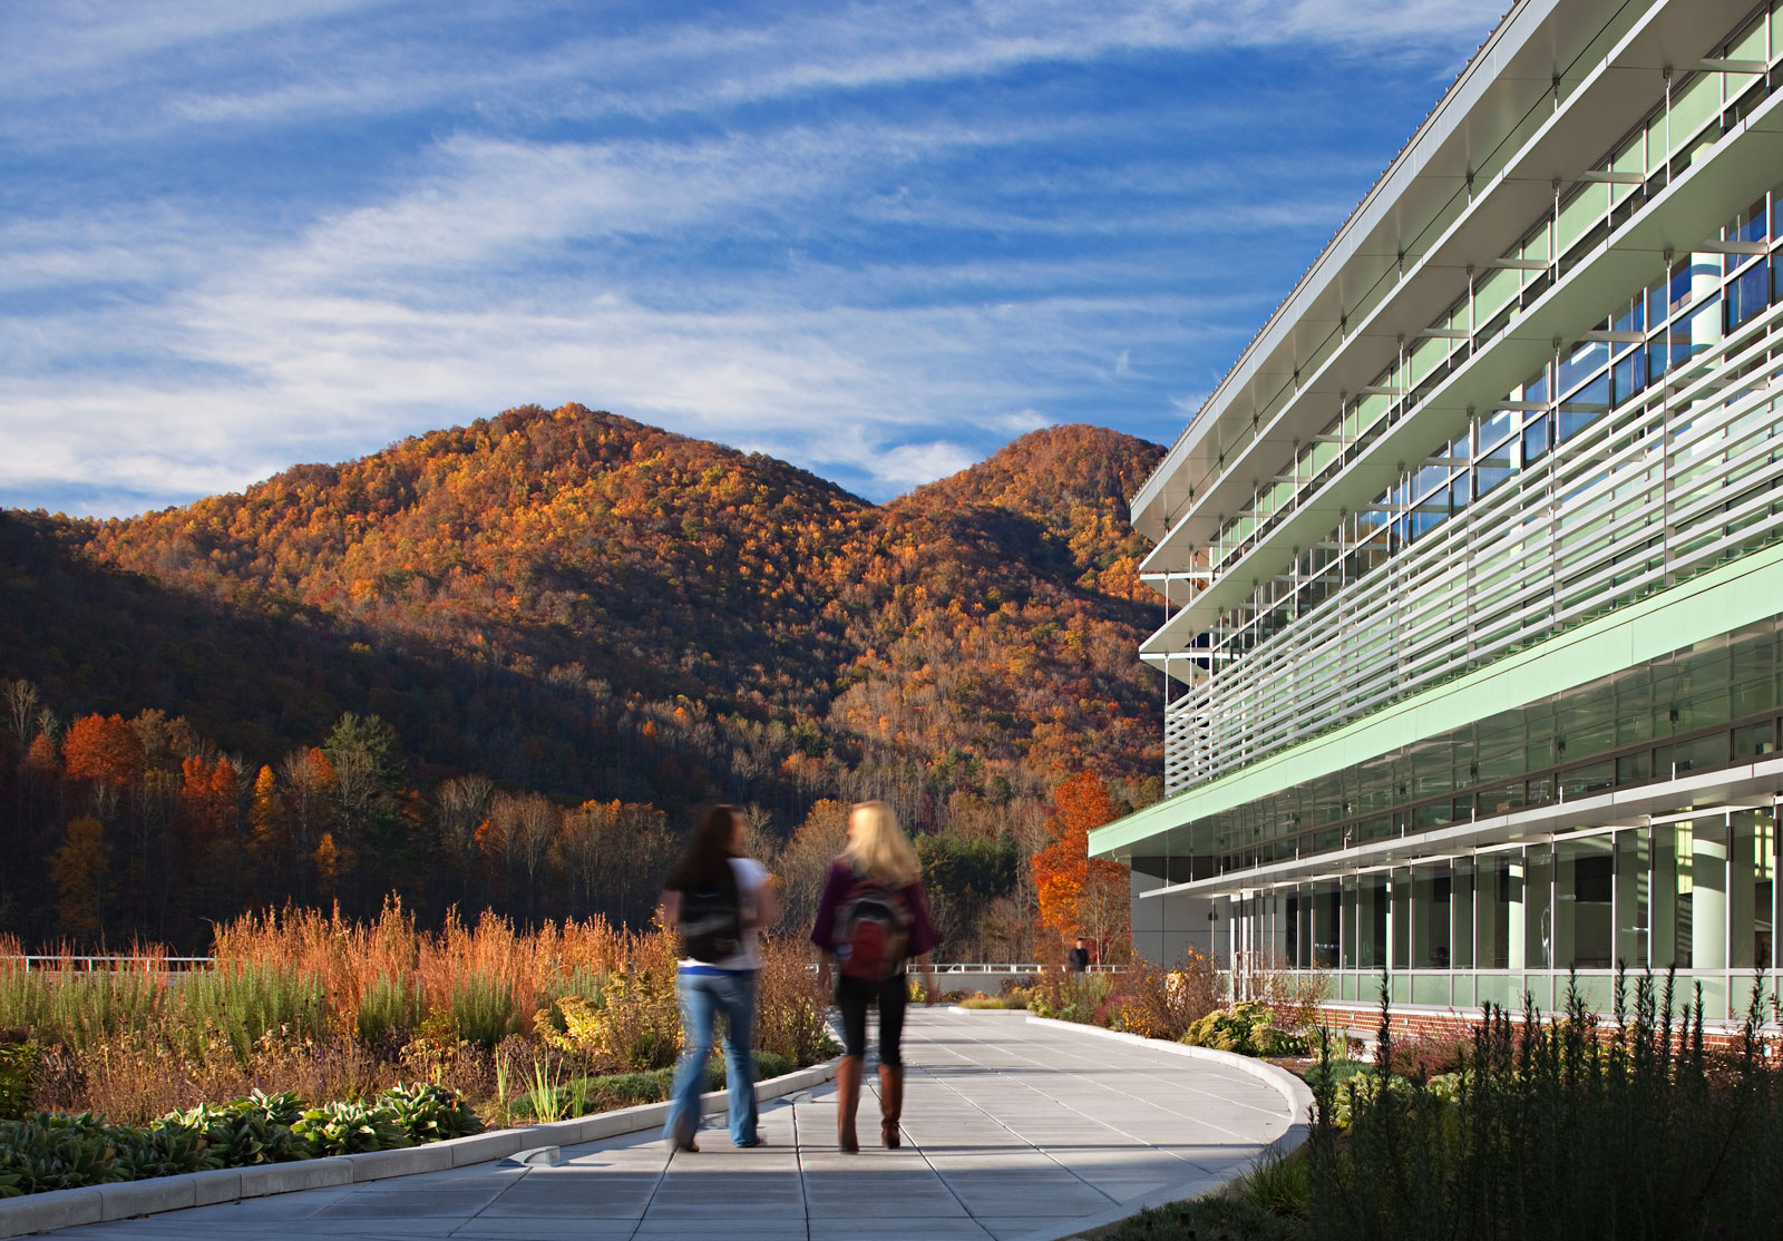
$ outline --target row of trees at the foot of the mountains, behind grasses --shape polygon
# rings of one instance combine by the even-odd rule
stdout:
[[[64,722],[29,679],[0,681],[0,933],[27,943],[201,952],[237,913],[371,915],[390,893],[431,918],[460,908],[644,925],[690,826],[651,802],[563,804],[481,774],[417,786],[376,715],[344,713],[317,744],[253,761],[159,710]],[[749,852],[774,870],[793,927],[815,915],[847,840],[849,799],[822,792],[797,820],[745,806]],[[943,954],[1045,957],[1079,933],[1125,943],[1125,872],[1082,852],[1088,827],[1123,808],[1091,772],[1048,797],[954,790],[943,826],[916,833]]]

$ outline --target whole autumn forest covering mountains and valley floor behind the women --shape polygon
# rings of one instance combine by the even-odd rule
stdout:
[[[1123,497],[1034,431],[872,505],[517,408],[127,521],[0,514],[0,934],[203,950],[394,893],[642,925],[694,808],[809,916],[850,801],[918,838],[943,956],[1125,936],[1088,827],[1159,795]]]

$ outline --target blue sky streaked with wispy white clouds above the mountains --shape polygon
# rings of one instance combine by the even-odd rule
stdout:
[[[0,508],[579,401],[875,501],[1168,444],[1507,0],[9,0]]]

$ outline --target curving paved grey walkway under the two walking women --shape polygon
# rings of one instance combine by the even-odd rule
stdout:
[[[563,1150],[556,1168],[476,1164],[62,1229],[53,1237],[490,1237],[508,1241],[986,1241],[1057,1236],[1148,1193],[1241,1171],[1291,1123],[1268,1084],[1198,1059],[1029,1025],[913,1011],[902,1150],[861,1100],[859,1155],[836,1150],[834,1089],[768,1104],[765,1146],[724,1129],[699,1154],[654,1134]],[[717,1118],[722,1122],[722,1116]]]

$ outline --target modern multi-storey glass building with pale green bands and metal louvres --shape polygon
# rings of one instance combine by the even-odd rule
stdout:
[[[1132,497],[1134,940],[1542,1007],[1783,965],[1783,0],[1519,0]]]

